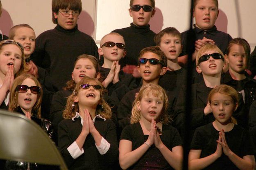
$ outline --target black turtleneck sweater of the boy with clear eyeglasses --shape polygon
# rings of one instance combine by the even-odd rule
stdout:
[[[81,54],[98,56],[97,45],[91,36],[60,25],[40,34],[31,58],[36,65],[50,74],[54,87],[61,90],[70,80],[76,58]]]

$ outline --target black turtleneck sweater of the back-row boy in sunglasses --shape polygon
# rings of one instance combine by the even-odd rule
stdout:
[[[121,67],[125,65],[138,65],[140,50],[156,45],[154,42],[156,33],[150,30],[150,25],[138,27],[131,23],[130,27],[116,29],[112,32],[121,34],[125,39],[127,54],[119,62]]]

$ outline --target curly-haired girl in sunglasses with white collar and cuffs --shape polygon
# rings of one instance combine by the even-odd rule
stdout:
[[[100,81],[84,77],[68,97],[58,143],[69,169],[111,169],[118,159],[116,128],[102,94]]]

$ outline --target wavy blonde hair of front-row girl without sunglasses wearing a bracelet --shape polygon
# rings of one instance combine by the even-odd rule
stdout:
[[[133,107],[131,110],[131,123],[137,123],[138,121],[140,121],[140,110],[138,110],[138,103],[141,101],[141,99],[149,94],[152,94],[155,97],[159,97],[161,98],[161,100],[163,100],[163,108],[161,111],[161,115],[160,115],[160,122],[163,124],[168,124],[170,123],[170,117],[168,115],[168,96],[165,93],[165,90],[159,86],[159,85],[155,85],[155,84],[148,84],[145,85],[143,87],[140,88],[140,91],[138,93],[138,96],[136,97],[134,103],[133,103]]]

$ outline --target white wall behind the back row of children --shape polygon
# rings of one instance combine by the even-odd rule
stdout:
[[[9,33],[13,25],[27,23],[36,35],[54,28],[51,0],[1,0],[3,6],[0,29]],[[93,36],[98,43],[110,31],[128,27],[129,0],[82,0],[79,29]],[[219,30],[233,38],[245,38],[252,48],[256,45],[256,0],[219,0],[220,15],[216,21]],[[189,27],[190,0],[156,0],[156,14],[150,21],[151,29],[159,32],[176,27],[180,32]]]

